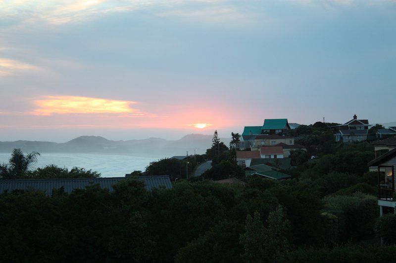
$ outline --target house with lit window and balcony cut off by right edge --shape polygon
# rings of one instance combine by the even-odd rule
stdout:
[[[376,167],[378,172],[378,205],[380,215],[383,215],[383,207],[396,208],[396,200],[393,197],[395,192],[395,166],[396,149],[377,157],[368,163],[371,167]]]

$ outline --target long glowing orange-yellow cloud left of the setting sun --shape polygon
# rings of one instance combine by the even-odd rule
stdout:
[[[130,107],[133,101],[117,101],[77,96],[47,96],[43,100],[37,100],[39,107],[34,110],[35,114],[50,115],[53,113],[134,113],[142,114]]]

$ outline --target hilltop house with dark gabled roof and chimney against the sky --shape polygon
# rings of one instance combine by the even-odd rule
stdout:
[[[344,124],[332,126],[332,128],[336,132],[336,142],[352,143],[366,141],[370,126],[367,119],[357,119],[354,114],[353,119]]]

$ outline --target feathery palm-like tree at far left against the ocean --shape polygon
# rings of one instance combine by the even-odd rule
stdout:
[[[32,164],[37,162],[37,155],[40,153],[36,151],[24,154],[21,149],[14,149],[8,164],[0,165],[0,178],[16,179],[25,176]]]

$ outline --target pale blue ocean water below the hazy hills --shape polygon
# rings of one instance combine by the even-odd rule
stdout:
[[[11,153],[0,152],[0,163],[8,163]],[[124,177],[135,170],[144,171],[150,162],[161,157],[142,157],[116,154],[41,153],[31,169],[55,164],[69,170],[74,166],[98,171],[102,177]]]

